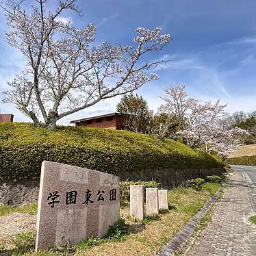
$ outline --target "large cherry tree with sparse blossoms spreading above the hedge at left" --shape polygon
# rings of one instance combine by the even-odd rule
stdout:
[[[31,3],[31,10],[27,3]],[[27,58],[27,68],[8,82],[10,89],[4,92],[3,102],[14,103],[36,127],[42,118],[49,129],[55,129],[57,120],[64,116],[159,78],[150,71],[165,61],[145,61],[170,40],[169,34],[161,35],[159,27],[135,29],[138,36],[131,46],[96,45],[93,24],[77,28],[63,18],[66,11],[81,15],[76,0],[51,1],[51,12],[47,3],[1,3],[10,27],[7,42]]]

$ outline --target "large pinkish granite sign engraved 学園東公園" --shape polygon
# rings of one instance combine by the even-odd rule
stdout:
[[[42,162],[36,251],[101,238],[120,217],[119,179],[96,170]]]

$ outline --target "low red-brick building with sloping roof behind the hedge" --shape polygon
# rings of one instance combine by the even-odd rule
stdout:
[[[86,126],[86,127],[97,127],[97,128],[108,128],[115,130],[125,129],[125,120],[127,118],[116,112],[105,114],[101,116],[92,116],[88,118],[82,118],[79,120],[71,121],[75,126]]]

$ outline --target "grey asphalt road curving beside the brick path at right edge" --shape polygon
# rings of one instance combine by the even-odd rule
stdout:
[[[246,186],[248,187],[248,195],[256,212],[256,166],[236,166],[231,165],[233,170],[242,172]]]

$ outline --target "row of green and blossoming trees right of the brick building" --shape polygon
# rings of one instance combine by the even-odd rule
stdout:
[[[227,104],[221,105],[220,101],[201,103],[188,97],[184,85],[164,89],[160,98],[164,103],[153,114],[141,96],[125,95],[116,111],[127,116],[126,129],[180,140],[192,149],[216,153],[225,160],[238,146],[248,142],[256,128],[255,112],[244,114],[243,119],[238,118],[237,113],[229,115],[225,112]],[[254,126],[250,128],[251,124]]]

